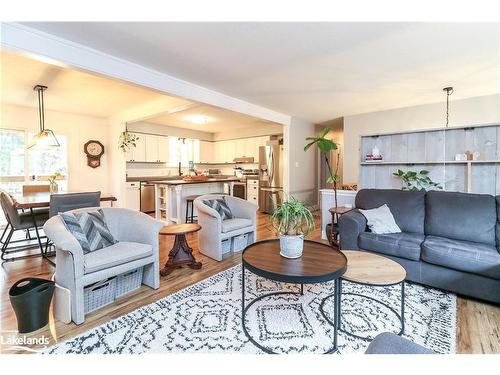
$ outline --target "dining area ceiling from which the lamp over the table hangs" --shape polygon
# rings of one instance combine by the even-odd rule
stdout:
[[[33,86],[41,84],[45,108],[97,117],[109,117],[141,103],[166,97],[152,90],[2,51],[2,102],[37,106]],[[172,104],[180,100],[172,97]],[[185,103],[185,101],[182,101]]]

